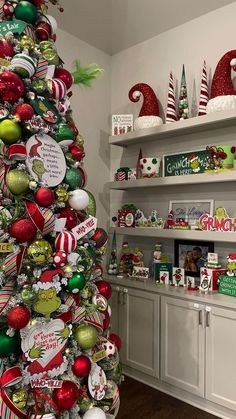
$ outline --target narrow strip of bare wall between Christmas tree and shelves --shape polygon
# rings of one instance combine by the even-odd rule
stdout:
[[[71,108],[80,133],[85,138],[85,169],[88,174],[87,189],[96,197],[97,217],[100,227],[107,227],[109,199],[104,184],[109,179],[109,113],[111,57],[67,32],[58,30],[57,49],[65,68],[75,70],[74,62],[82,65],[97,63],[105,71],[91,89],[73,87]]]

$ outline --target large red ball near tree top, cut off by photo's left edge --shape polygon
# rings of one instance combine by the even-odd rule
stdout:
[[[0,74],[0,101],[17,102],[25,92],[22,79],[12,71],[4,71]]]

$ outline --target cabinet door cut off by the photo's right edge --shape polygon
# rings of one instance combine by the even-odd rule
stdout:
[[[236,410],[236,312],[211,307],[206,324],[206,398]]]

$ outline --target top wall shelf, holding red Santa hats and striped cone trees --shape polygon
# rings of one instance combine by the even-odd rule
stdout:
[[[186,135],[216,128],[236,125],[235,111],[216,112],[210,115],[197,116],[183,121],[163,124],[158,127],[132,131],[124,135],[109,137],[109,143],[119,147],[139,144],[147,141],[158,141],[178,135]]]

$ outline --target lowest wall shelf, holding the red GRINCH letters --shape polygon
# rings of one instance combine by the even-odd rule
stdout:
[[[235,233],[222,233],[218,231],[199,231],[199,230],[159,230],[155,227],[111,227],[111,232],[116,231],[117,234],[124,236],[135,237],[156,237],[163,239],[186,239],[186,240],[201,240],[214,241],[223,243],[235,243]]]

